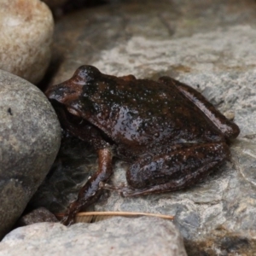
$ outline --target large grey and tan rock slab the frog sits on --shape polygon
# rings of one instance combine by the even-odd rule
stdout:
[[[59,66],[52,84],[69,79],[83,64],[119,76],[132,73],[137,78],[158,79],[169,75],[201,91],[221,112],[234,113],[241,128],[241,135],[230,146],[230,162],[205,181],[175,193],[137,198],[123,198],[117,193],[107,196],[106,192],[95,210],[175,215],[174,224],[184,237],[189,255],[253,255],[255,7],[256,3],[249,0],[129,1],[94,11],[81,10],[59,20],[55,34],[55,63]],[[84,163],[79,163],[87,161],[84,158]],[[93,159],[89,162],[95,164]],[[116,161],[110,183],[124,183],[127,168],[126,163]],[[83,182],[88,172],[81,177]],[[61,188],[60,183],[53,186]],[[74,191],[72,188],[62,188],[67,195],[62,192],[55,212],[63,211],[67,199],[74,198],[69,193]],[[48,205],[52,207],[53,203]]]

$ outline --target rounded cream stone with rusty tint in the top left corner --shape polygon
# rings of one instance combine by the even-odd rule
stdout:
[[[38,83],[49,66],[54,22],[38,0],[0,3],[0,68]]]

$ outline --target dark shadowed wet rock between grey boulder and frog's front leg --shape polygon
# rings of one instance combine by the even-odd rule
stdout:
[[[51,172],[32,197],[30,207],[44,206],[51,212],[65,212],[96,168],[96,152],[88,143],[68,135],[61,140]]]

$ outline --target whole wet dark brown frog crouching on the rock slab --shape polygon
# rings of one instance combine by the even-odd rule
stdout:
[[[72,224],[81,207],[97,200],[113,172],[113,156],[131,164],[129,186],[112,188],[122,195],[173,191],[228,160],[227,142],[240,132],[199,92],[169,77],[157,82],[114,77],[82,66],[46,95],[63,129],[98,153],[98,170],[70,205],[64,224]]]

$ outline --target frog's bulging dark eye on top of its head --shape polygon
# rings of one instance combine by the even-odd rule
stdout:
[[[84,65],[76,70],[73,74],[73,79],[75,79],[79,84],[86,84],[100,75],[101,72],[96,67]]]

